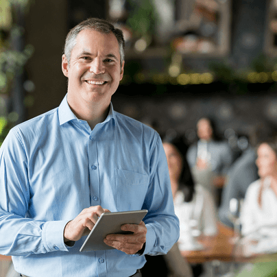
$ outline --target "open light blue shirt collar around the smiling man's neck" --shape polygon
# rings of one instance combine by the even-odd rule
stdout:
[[[73,114],[71,108],[69,107],[69,104],[67,103],[67,95],[64,96],[64,99],[62,99],[62,102],[60,103],[60,106],[58,108],[58,114],[60,125],[74,119],[77,120],[77,117]],[[112,102],[110,102],[110,110],[108,112],[108,117],[106,117],[103,123],[110,121],[110,119],[115,119],[115,111],[112,106]]]

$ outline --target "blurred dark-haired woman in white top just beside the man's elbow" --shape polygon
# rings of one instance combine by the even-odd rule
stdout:
[[[180,220],[180,250],[199,247],[194,239],[200,234],[217,234],[217,213],[213,197],[201,184],[194,184],[182,138],[164,141],[176,215]]]

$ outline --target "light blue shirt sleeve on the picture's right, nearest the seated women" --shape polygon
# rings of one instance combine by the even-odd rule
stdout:
[[[150,184],[143,208],[148,210],[144,219],[147,234],[143,254],[166,254],[178,241],[180,229],[174,213],[167,158],[158,134],[150,158]]]

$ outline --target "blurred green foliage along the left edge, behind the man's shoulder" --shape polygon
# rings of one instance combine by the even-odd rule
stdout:
[[[1,1],[1,0],[0,0]],[[19,17],[28,11],[29,3],[33,0],[6,0],[10,8],[5,12],[12,14],[12,21],[0,25],[0,146],[10,129],[19,119],[17,112],[10,112],[6,104],[12,97],[12,85],[16,75],[23,73],[27,60],[32,56],[34,47],[26,45],[23,51],[17,51],[12,44],[21,39],[24,34],[23,26],[19,25]],[[7,8],[7,5],[5,6]],[[10,19],[10,17],[8,16]],[[30,103],[30,101],[27,101]],[[22,104],[23,105],[23,104]]]

